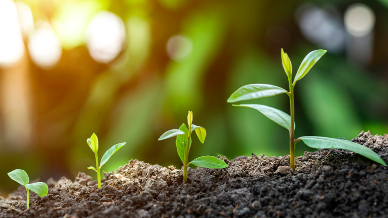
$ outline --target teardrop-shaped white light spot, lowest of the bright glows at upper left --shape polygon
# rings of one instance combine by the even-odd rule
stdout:
[[[60,60],[62,45],[49,23],[42,21],[38,26],[29,35],[28,51],[36,65],[49,69]]]

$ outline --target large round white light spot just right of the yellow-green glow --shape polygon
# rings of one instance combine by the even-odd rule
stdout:
[[[92,58],[100,63],[109,63],[123,49],[125,42],[124,22],[109,11],[97,13],[90,21],[86,45]]]

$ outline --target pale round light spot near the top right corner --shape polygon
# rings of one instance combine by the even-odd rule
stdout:
[[[362,3],[350,5],[345,11],[345,27],[353,36],[362,37],[370,33],[375,25],[375,14]]]

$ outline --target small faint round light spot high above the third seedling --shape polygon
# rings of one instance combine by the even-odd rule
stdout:
[[[193,42],[185,35],[174,35],[169,38],[166,50],[172,60],[179,62],[190,56]]]

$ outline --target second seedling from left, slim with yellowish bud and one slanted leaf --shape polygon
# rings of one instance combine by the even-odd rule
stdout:
[[[98,166],[98,155],[97,155],[97,151],[98,151],[98,138],[97,138],[97,135],[95,133],[93,133],[93,135],[90,138],[88,138],[88,140],[86,140],[86,142],[88,142],[88,145],[89,145],[90,149],[92,149],[92,151],[95,152],[95,156],[96,156],[96,168],[88,167],[88,169],[96,171],[96,173],[97,173],[97,181],[98,181],[98,188],[100,189],[101,188],[100,169],[101,169],[102,165],[104,165],[106,163],[106,161],[108,161],[109,158],[114,153],[116,153],[116,151],[118,151],[118,149],[120,149],[122,146],[124,146],[126,142],[115,144],[111,148],[109,148],[105,152],[105,154],[102,156],[101,162],[100,162],[99,166]]]

